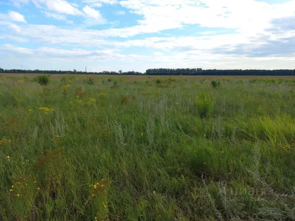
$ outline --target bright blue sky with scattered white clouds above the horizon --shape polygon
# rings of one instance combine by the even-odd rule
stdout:
[[[295,0],[0,0],[0,67],[295,69]]]

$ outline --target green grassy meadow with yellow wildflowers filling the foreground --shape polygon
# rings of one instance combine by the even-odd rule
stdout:
[[[295,79],[140,77],[0,77],[0,220],[295,220]]]

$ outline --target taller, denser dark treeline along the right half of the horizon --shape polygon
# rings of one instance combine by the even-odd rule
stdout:
[[[295,69],[294,69],[295,70]],[[155,68],[146,70],[146,75],[274,75],[291,76],[294,70],[203,70],[202,68]],[[294,72],[295,74],[295,72]]]

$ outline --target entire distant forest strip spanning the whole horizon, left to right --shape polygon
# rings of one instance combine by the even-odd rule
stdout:
[[[294,69],[295,70],[295,69]],[[202,68],[154,68],[148,69],[145,73],[135,71],[103,71],[103,72],[85,72],[85,71],[56,71],[56,70],[21,70],[0,68],[0,73],[37,73],[37,74],[79,74],[79,75],[257,75],[257,76],[293,76],[294,70],[203,70]],[[295,72],[294,72],[295,74]]]

